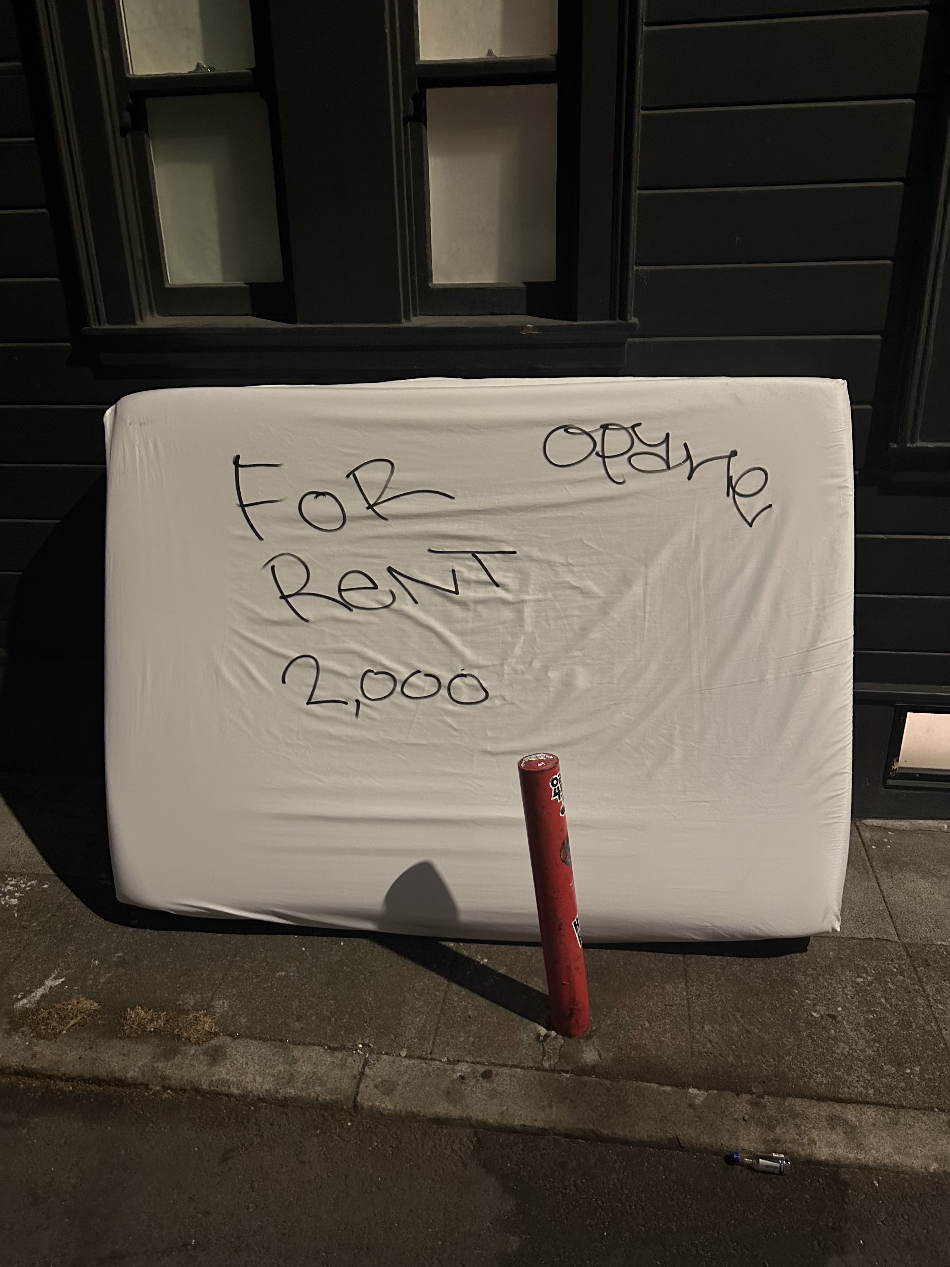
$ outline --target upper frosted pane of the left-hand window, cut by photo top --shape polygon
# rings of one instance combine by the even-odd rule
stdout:
[[[248,0],[123,0],[133,75],[250,70]]]

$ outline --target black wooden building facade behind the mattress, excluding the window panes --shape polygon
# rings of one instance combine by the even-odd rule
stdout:
[[[101,416],[124,394],[822,375],[852,402],[855,812],[950,817],[950,783],[892,773],[907,710],[950,710],[944,8],[561,0],[556,53],[467,60],[424,60],[402,0],[248,13],[252,70],[136,73],[118,0],[0,0],[0,767],[101,769]],[[440,103],[551,85],[550,275],[440,281]],[[263,119],[272,264],[180,284],[155,146],[210,98]]]

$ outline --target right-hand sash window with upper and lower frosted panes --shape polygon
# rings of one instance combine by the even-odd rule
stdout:
[[[557,0],[403,5],[421,313],[567,315],[578,39],[561,13],[562,42]]]

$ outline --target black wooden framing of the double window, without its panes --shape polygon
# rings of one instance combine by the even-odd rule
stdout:
[[[561,185],[570,189],[576,232],[559,232],[559,286],[569,298],[559,300],[556,315],[542,312],[535,324],[524,326],[523,317],[535,315],[527,298],[510,304],[508,313],[491,312],[499,305],[490,303],[481,313],[478,304],[455,314],[419,310],[427,305],[418,302],[418,195],[410,180],[418,120],[405,76],[405,0],[350,0],[319,14],[322,6],[304,0],[251,0],[258,63],[253,71],[158,76],[162,84],[129,73],[118,0],[34,0],[77,246],[82,342],[100,370],[114,372],[106,367],[109,348],[118,364],[130,347],[141,347],[137,360],[168,372],[175,357],[167,352],[187,346],[187,372],[206,372],[215,348],[241,346],[260,348],[263,361],[280,348],[289,369],[308,361],[314,379],[314,350],[350,347],[352,337],[370,359],[374,346],[403,348],[390,372],[403,366],[405,372],[443,366],[465,372],[467,366],[476,374],[559,372],[556,365],[560,372],[622,370],[626,341],[636,328],[628,318],[630,229],[622,228],[632,203],[632,23],[628,0],[589,0],[583,9],[580,0],[561,4],[567,11],[573,6],[581,33],[580,109],[570,138],[576,179],[559,180],[557,195],[560,218],[567,196]],[[603,73],[604,37],[608,47],[613,42],[613,77]],[[414,29],[412,61],[414,79]],[[611,80],[607,91],[603,80]],[[590,101],[584,95],[588,82],[602,89],[599,98],[590,90]],[[201,303],[205,288],[168,286],[165,280],[149,246],[160,241],[158,219],[143,120],[136,115],[143,113],[148,94],[180,86],[257,91],[269,104],[285,276],[274,284],[284,288],[280,303],[263,293],[270,284],[214,286],[208,289],[219,299],[231,294],[219,304],[224,312],[209,313]],[[559,137],[559,167],[560,146]],[[336,179],[328,182],[327,172]],[[564,285],[561,238],[569,243]],[[488,343],[486,327],[495,331]],[[574,351],[565,360],[566,348]],[[182,364],[179,357],[179,378]],[[218,364],[223,367],[224,361]]]

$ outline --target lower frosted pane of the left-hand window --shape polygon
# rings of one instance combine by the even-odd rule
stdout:
[[[267,105],[255,92],[148,101],[168,281],[280,281]]]

